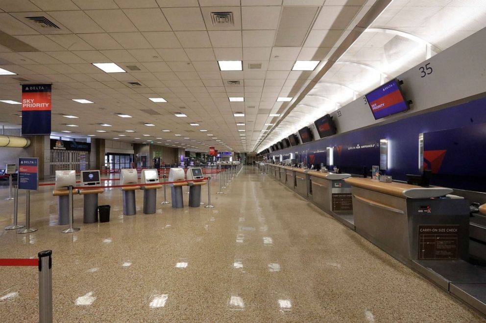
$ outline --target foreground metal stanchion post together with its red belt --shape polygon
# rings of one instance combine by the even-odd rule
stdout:
[[[1,258],[0,266],[31,266],[39,270],[39,323],[52,323],[52,250],[36,258]]]

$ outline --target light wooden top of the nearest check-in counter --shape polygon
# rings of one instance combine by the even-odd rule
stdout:
[[[421,187],[405,183],[384,183],[370,178],[349,177],[344,180],[351,186],[402,198],[431,198],[452,193],[452,189],[445,187]]]

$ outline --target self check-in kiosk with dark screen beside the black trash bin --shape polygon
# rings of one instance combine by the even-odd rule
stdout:
[[[81,171],[81,181],[83,186],[99,185],[99,171]],[[102,194],[103,189],[80,189],[78,194],[84,195],[83,222],[95,223],[98,221],[98,194]]]

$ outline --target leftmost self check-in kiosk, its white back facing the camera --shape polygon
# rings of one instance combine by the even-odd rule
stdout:
[[[56,183],[52,195],[58,196],[57,224],[69,223],[69,190],[70,186],[76,186],[75,171],[56,171]]]

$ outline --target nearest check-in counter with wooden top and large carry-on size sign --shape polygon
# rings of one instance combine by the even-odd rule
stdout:
[[[452,189],[356,177],[344,181],[352,187],[356,232],[393,257],[405,263],[467,260],[469,201],[439,198]]]

